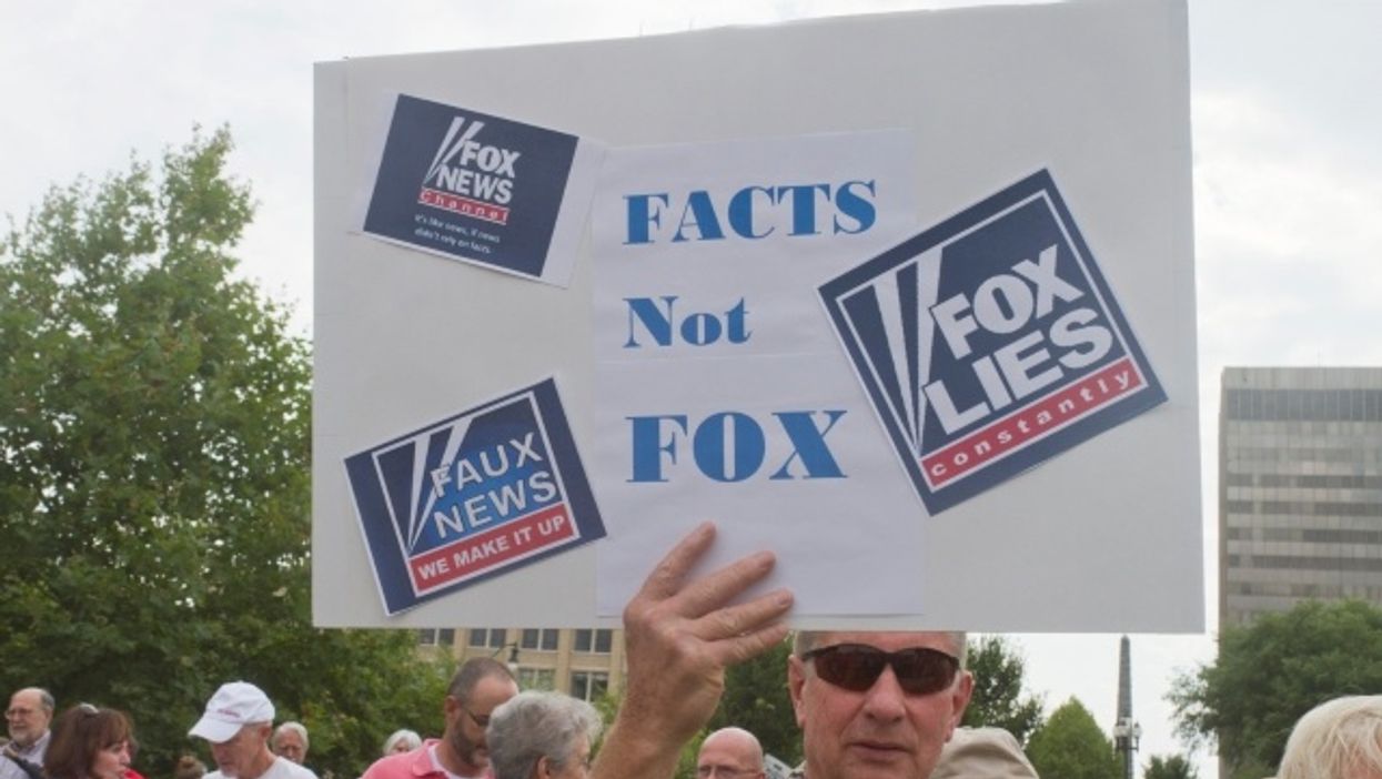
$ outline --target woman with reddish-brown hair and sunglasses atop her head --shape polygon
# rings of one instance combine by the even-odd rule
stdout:
[[[43,772],[48,779],[123,779],[131,735],[130,720],[115,709],[73,706],[53,724]]]

